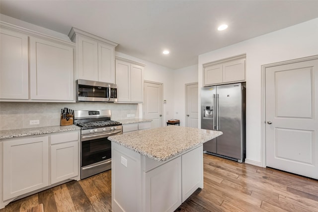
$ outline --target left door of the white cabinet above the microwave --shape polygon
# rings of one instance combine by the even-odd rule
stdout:
[[[77,41],[77,74],[79,79],[98,81],[98,43],[80,36]]]

